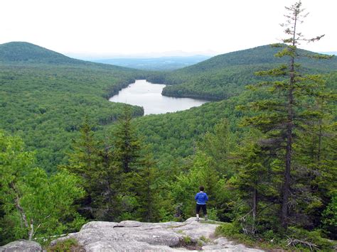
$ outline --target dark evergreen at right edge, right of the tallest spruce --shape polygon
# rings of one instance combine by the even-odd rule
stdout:
[[[319,112],[320,118],[308,122],[306,131],[299,134],[301,142],[295,148],[301,154],[296,160],[301,164],[300,174],[296,175],[296,185],[302,192],[302,198],[311,199],[298,204],[297,212],[306,213],[303,224],[309,229],[321,224],[321,212],[336,191],[336,126],[332,123],[333,116],[328,103],[324,101],[332,97],[331,94],[324,94],[311,104],[312,110]]]

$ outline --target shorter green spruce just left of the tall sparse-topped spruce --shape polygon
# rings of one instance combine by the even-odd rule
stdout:
[[[274,192],[272,184],[275,181],[271,179],[273,171],[269,160],[265,158],[266,151],[250,138],[233,154],[235,158],[232,162],[237,166],[237,175],[228,182],[228,186],[237,189],[239,200],[232,199],[235,204],[241,204],[240,200],[243,200],[248,207],[243,207],[247,214],[237,217],[245,234],[255,234],[258,231],[257,219],[261,219],[260,209],[265,210],[265,204],[269,204],[266,198],[271,197]]]

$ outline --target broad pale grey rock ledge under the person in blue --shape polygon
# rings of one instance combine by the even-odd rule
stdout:
[[[91,221],[50,245],[75,238],[86,251],[260,251],[223,237],[215,239],[217,226],[195,218],[164,223]]]

